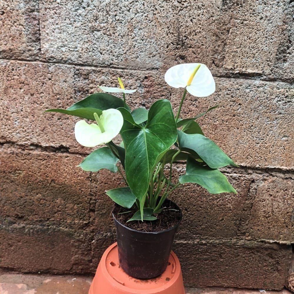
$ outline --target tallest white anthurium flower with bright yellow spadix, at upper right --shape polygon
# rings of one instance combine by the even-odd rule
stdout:
[[[174,88],[185,88],[196,97],[206,97],[216,90],[211,71],[202,63],[178,64],[166,72],[165,81]]]

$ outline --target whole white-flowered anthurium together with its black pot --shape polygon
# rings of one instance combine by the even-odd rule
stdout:
[[[168,85],[184,88],[176,115],[167,99],[156,101],[149,111],[131,111],[126,94],[136,90],[125,89],[120,78],[120,88],[99,88],[122,93],[123,99],[94,93],[67,109],[46,111],[93,121],[76,123],[76,140],[86,147],[106,145],[93,151],[79,166],[85,171],[119,172],[125,181],[125,187],[114,187],[106,194],[115,202],[112,215],[120,266],[136,278],[153,278],[166,269],[182,218],[180,208],[168,196],[176,193],[180,185],[196,183],[212,194],[236,193],[218,168],[237,165],[204,136],[196,122],[217,106],[192,118],[180,117],[187,92],[206,97],[215,91],[210,70],[199,63],[179,64],[168,69],[164,78]],[[122,138],[119,145],[112,141],[118,134]],[[178,161],[186,162],[186,173],[174,183],[172,167]]]

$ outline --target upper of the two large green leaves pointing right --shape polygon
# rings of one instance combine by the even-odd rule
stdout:
[[[196,152],[210,168],[220,168],[227,165],[237,166],[213,141],[201,134],[185,134],[178,130],[180,149],[188,148]]]

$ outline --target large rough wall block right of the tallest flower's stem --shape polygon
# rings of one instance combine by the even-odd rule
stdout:
[[[188,96],[182,116],[219,105],[198,122],[235,162],[293,170],[293,85],[225,78],[217,79],[216,85],[207,98]],[[171,100],[175,103],[173,96]]]

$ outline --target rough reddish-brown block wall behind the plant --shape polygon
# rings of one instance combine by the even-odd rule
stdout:
[[[94,273],[115,241],[105,189],[116,174],[76,165],[91,150],[74,138],[66,108],[115,86],[149,108],[181,91],[172,65],[202,62],[216,79],[187,96],[199,121],[240,168],[224,172],[238,195],[186,185],[173,195],[184,218],[174,250],[186,285],[280,289],[294,243],[293,0],[0,0],[0,268]],[[183,171],[176,166],[175,172]]]

